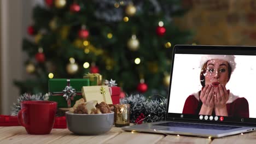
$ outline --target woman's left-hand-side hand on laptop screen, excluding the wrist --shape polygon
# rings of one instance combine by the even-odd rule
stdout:
[[[201,91],[200,99],[206,107],[214,107],[213,89],[212,85],[206,85]]]

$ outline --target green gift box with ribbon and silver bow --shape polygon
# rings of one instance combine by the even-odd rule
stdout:
[[[83,86],[90,86],[89,79],[50,79],[49,85],[49,99],[56,101],[57,107],[72,107],[75,101],[83,98],[81,89]],[[68,87],[67,87],[68,86]],[[69,89],[68,89],[69,88]],[[66,94],[75,91],[75,95],[66,99]]]

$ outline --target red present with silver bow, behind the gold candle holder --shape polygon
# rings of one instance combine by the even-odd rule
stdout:
[[[117,87],[117,83],[115,83],[114,80],[105,80],[105,85],[109,86],[109,92],[110,92],[110,95],[111,95],[111,99],[112,99],[112,102],[113,104],[119,104],[120,103],[120,93],[121,93],[121,88],[120,87]]]

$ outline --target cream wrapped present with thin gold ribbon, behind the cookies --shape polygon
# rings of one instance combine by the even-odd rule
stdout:
[[[82,94],[85,101],[97,100],[98,103],[104,101],[109,105],[113,104],[108,86],[84,86]]]

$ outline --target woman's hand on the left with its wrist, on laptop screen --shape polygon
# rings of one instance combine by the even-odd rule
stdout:
[[[200,94],[200,99],[202,101],[202,107],[199,115],[212,115],[214,107],[214,96],[213,96],[213,86],[206,85]]]

